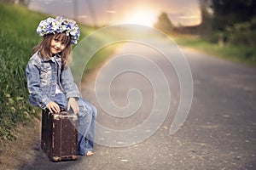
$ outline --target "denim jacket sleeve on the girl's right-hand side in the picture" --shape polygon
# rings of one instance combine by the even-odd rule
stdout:
[[[70,67],[61,71],[61,86],[68,98],[79,98],[79,88],[73,81],[73,75]]]

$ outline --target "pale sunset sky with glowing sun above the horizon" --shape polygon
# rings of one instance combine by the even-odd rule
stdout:
[[[201,23],[198,0],[30,0],[29,8],[90,26],[153,26],[163,12],[175,26]]]

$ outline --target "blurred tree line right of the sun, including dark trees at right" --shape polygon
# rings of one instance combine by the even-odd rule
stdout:
[[[173,26],[166,13],[159,16],[155,27],[166,33],[194,33],[224,44],[256,45],[255,0],[199,0],[199,26]]]

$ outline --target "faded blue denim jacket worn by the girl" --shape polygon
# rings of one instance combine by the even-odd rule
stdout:
[[[39,53],[33,54],[26,65],[26,80],[29,103],[42,109],[55,99],[57,82],[67,99],[79,98],[79,88],[73,82],[70,68],[61,69],[59,54],[50,59],[43,59]]]

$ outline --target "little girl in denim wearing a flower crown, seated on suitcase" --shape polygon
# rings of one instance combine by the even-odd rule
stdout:
[[[96,107],[80,96],[68,66],[71,44],[79,40],[79,26],[73,20],[49,17],[40,22],[37,32],[44,39],[32,49],[34,54],[26,65],[29,102],[52,113],[72,109],[78,114],[78,154],[91,156]]]

